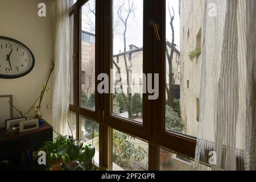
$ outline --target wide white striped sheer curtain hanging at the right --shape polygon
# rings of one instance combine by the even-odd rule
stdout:
[[[256,1],[205,0],[203,37],[195,169],[256,170]]]

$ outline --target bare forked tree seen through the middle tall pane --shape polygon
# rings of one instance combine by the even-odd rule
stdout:
[[[129,77],[129,68],[131,67],[131,60],[132,57],[129,56],[129,51],[127,51],[126,48],[126,44],[127,44],[127,38],[126,38],[126,33],[127,33],[127,26],[128,26],[128,20],[131,17],[131,15],[134,15],[134,2],[132,0],[128,0],[127,1],[128,5],[127,7],[125,6],[125,1],[122,2],[122,4],[118,7],[117,10],[117,15],[118,18],[120,20],[120,22],[122,23],[124,30],[123,30],[123,59],[125,61],[125,69],[126,69],[126,81],[127,81],[127,90],[129,91],[128,93],[128,98],[126,98],[125,94],[123,93],[123,84],[122,84],[122,78],[121,78],[121,68],[118,67],[118,65],[115,63],[115,61],[113,60],[113,64],[115,65],[115,67],[117,68],[117,71],[120,75],[119,77],[119,81],[121,83],[121,90],[122,90],[122,97],[123,100],[125,100],[125,105],[127,107],[128,110],[128,117],[130,119],[133,118],[133,111],[131,109],[131,84],[130,84],[130,77]],[[130,64],[130,65],[128,65]]]

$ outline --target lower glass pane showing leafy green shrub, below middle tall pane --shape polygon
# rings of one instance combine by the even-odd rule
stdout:
[[[113,130],[113,171],[123,170],[148,170],[148,144]]]

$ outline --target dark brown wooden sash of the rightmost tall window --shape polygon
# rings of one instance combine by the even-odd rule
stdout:
[[[152,109],[154,111],[152,112],[152,127],[154,128],[152,138],[158,143],[158,146],[195,158],[196,138],[165,130],[166,1],[154,1],[154,7],[154,19],[160,24],[159,35],[162,39],[159,41],[153,39],[153,73],[159,73],[159,98],[152,101]],[[163,10],[162,13],[159,10]]]

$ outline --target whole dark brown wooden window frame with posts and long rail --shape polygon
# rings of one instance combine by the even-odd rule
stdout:
[[[96,110],[85,109],[80,106],[80,60],[81,60],[81,7],[88,0],[77,0],[69,9],[74,14],[74,95],[73,105],[69,110],[77,116],[77,137],[81,138],[80,115],[91,118],[100,124],[100,167],[112,169],[112,129],[129,134],[148,143],[148,169],[159,169],[159,147],[177,152],[189,158],[195,157],[196,139],[168,132],[164,127],[164,79],[165,79],[165,0],[144,0],[143,8],[143,73],[159,73],[159,98],[148,100],[148,93],[143,94],[143,124],[129,119],[115,117],[111,114],[111,94],[96,92]],[[146,8],[145,8],[146,7]],[[150,25],[151,20],[160,24],[160,39]],[[96,88],[100,81],[98,73],[110,76],[112,68],[112,0],[96,0]],[[154,50],[154,51],[153,51]],[[153,66],[154,65],[154,66]],[[145,80],[143,80],[145,81]],[[95,89],[97,90],[97,89]]]

